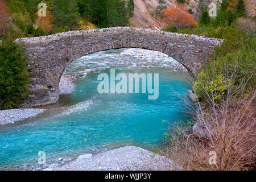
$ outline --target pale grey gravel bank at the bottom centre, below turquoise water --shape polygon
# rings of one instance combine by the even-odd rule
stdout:
[[[63,159],[59,159],[61,161]],[[135,146],[125,146],[84,154],[67,163],[52,163],[43,171],[123,171],[123,170],[170,170],[171,160],[154,152]]]

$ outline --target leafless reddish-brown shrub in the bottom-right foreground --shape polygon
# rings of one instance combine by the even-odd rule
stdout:
[[[216,113],[212,110],[199,113],[207,137],[191,133],[192,125],[171,123],[169,144],[160,155],[172,159],[173,169],[241,170],[246,169],[246,165],[253,166],[256,156],[255,92],[236,104],[221,106]],[[210,151],[216,152],[215,165],[209,164]]]

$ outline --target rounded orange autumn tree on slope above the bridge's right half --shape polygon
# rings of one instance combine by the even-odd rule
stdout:
[[[197,25],[195,16],[191,15],[184,6],[170,7],[163,9],[163,22],[169,26],[174,26],[177,30],[181,28],[191,28]]]

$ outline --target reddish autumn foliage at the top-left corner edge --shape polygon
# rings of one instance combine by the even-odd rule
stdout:
[[[10,10],[6,6],[4,0],[0,0],[0,35],[2,35],[7,29],[7,22],[10,16]]]

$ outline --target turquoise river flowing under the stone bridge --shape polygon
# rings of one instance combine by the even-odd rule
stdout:
[[[127,51],[131,49],[97,52],[73,61],[65,71],[76,78],[73,93],[61,96],[36,118],[1,127],[0,169],[37,163],[39,151],[53,160],[125,145],[160,147],[168,127],[162,120],[188,119],[176,96],[185,98],[189,89],[184,69],[176,69],[177,63],[165,55],[134,57]],[[109,75],[110,68],[116,68],[116,74],[159,73],[159,98],[99,94],[98,73]]]

